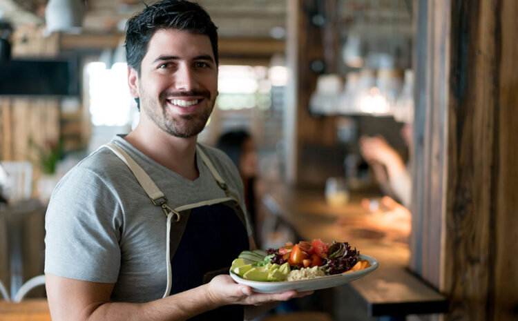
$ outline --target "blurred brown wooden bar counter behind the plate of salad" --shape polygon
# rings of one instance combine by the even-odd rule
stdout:
[[[371,316],[443,313],[445,296],[407,269],[410,251],[405,235],[367,226],[368,213],[361,206],[372,193],[352,193],[345,206],[329,206],[323,190],[287,188],[270,184],[262,203],[278,220],[294,229],[300,239],[349,242],[370,255],[379,267],[352,286],[363,298]]]

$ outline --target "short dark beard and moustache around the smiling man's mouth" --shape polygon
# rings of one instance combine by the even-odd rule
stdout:
[[[195,91],[189,93],[178,93],[176,96],[202,96],[205,97],[209,104],[207,108],[194,115],[168,115],[169,108],[167,108],[166,97],[171,97],[170,93],[161,93],[159,103],[155,102],[151,96],[141,95],[140,103],[144,113],[151,119],[164,133],[168,133],[174,137],[189,138],[198,135],[207,124],[207,120],[214,108],[215,99],[211,99],[211,94],[208,91]]]

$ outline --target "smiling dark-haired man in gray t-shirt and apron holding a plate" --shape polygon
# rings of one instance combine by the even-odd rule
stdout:
[[[236,167],[200,146],[218,95],[207,12],[165,0],[128,21],[140,123],[81,161],[46,215],[52,320],[242,320],[307,293],[253,293],[226,271],[253,249]],[[214,277],[214,275],[217,275]]]

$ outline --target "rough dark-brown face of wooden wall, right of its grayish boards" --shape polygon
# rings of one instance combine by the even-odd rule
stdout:
[[[514,0],[452,1],[445,320],[518,318],[518,259],[508,256],[518,249],[510,211],[517,76],[508,71],[518,57],[508,34],[518,30],[517,8]]]

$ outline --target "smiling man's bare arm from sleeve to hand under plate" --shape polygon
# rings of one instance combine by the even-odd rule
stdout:
[[[46,274],[52,320],[186,320],[227,304],[264,304],[285,301],[308,293],[255,293],[229,275],[218,275],[208,284],[147,303],[110,302],[114,284],[87,282]]]

